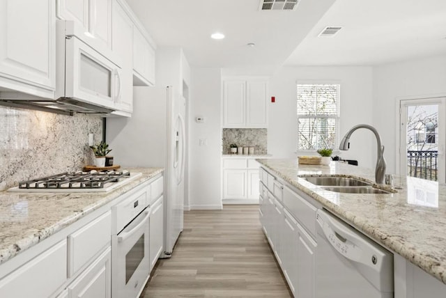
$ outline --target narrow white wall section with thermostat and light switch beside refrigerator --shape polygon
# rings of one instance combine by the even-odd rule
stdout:
[[[191,209],[221,209],[222,73],[220,68],[192,69],[189,113],[189,203]],[[203,116],[205,123],[196,123]],[[206,139],[207,146],[199,146]]]

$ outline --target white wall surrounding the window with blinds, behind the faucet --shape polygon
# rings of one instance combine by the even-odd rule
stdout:
[[[330,80],[341,84],[339,135],[357,124],[372,123],[371,67],[284,67],[270,79],[268,153],[275,158],[296,157],[297,118],[296,81]],[[339,139],[339,141],[340,141]],[[374,167],[376,141],[374,134],[358,130],[351,137],[351,149],[334,152],[343,159],[356,159],[360,166]]]

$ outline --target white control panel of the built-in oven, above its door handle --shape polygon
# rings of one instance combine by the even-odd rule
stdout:
[[[126,224],[128,224],[132,219],[134,219],[134,217],[144,210],[144,208],[147,206],[148,196],[150,195],[149,193],[150,185],[144,185],[144,187],[138,189],[124,201],[112,207],[114,223],[116,223],[116,226],[112,227],[112,233],[118,234]]]

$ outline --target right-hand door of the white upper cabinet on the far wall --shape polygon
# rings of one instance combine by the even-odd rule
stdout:
[[[268,127],[267,83],[248,81],[246,86],[246,126]]]

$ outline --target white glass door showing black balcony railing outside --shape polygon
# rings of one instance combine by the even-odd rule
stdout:
[[[446,97],[400,100],[399,174],[445,182]]]

